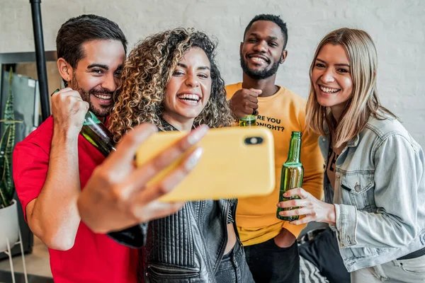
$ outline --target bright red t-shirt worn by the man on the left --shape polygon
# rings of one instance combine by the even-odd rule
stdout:
[[[40,194],[47,176],[53,119],[49,117],[13,151],[13,179],[26,217],[26,205]],[[105,159],[89,141],[78,138],[81,187]],[[64,168],[65,169],[65,168]],[[80,222],[70,250],[52,250],[50,267],[56,283],[136,282],[137,250],[122,246],[106,235],[92,232]]]

